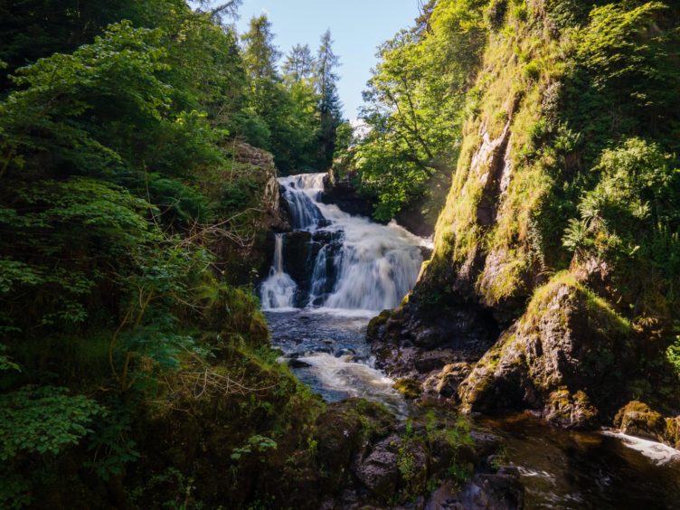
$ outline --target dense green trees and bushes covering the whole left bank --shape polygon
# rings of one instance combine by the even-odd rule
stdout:
[[[129,485],[138,459],[160,472],[144,428],[174,425],[167,410],[243,404],[231,439],[264,451],[282,430],[308,437],[320,407],[277,364],[252,288],[230,285],[259,269],[251,246],[276,172],[241,140],[284,171],[325,166],[335,143],[339,105],[322,137],[316,61],[285,80],[275,51],[254,61],[219,21],[238,1],[109,4],[0,6],[3,507],[54,505],[71,485],[105,505],[100,482]],[[201,399],[187,392],[195,373],[213,384]],[[224,394],[225,381],[257,398]],[[262,411],[278,418],[263,425]],[[192,477],[175,470],[149,490],[164,483],[195,503]]]

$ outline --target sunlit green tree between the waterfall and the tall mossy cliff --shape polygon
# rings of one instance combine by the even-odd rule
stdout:
[[[421,200],[440,203],[458,156],[466,91],[486,38],[479,2],[439,2],[427,23],[380,47],[381,63],[364,92],[370,129],[352,165],[378,199],[375,217],[389,220]],[[437,209],[437,205],[434,207]]]

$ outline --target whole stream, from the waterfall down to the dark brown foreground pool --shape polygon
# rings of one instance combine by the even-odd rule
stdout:
[[[422,240],[322,203],[325,174],[279,179],[293,231],[277,234],[260,286],[272,343],[297,377],[327,401],[360,396],[408,413],[393,381],[376,370],[368,321],[396,307],[422,264]],[[548,427],[528,414],[480,418],[505,439],[526,508],[680,508],[680,451],[609,432]]]

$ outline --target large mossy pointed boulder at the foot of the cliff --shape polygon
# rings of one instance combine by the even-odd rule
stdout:
[[[530,408],[565,427],[589,427],[617,409],[631,339],[606,304],[564,279],[534,297],[458,394],[471,411]]]

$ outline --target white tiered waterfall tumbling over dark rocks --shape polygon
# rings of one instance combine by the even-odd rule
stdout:
[[[305,271],[309,281],[296,283],[285,272],[292,262],[283,257],[286,234],[278,234],[269,279],[260,288],[262,306],[371,312],[397,307],[418,278],[424,240],[395,222],[374,223],[322,203],[324,176],[279,179],[293,229],[311,232]],[[315,251],[313,243],[322,246]]]

